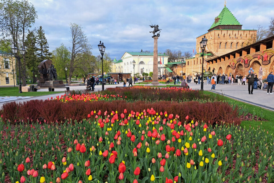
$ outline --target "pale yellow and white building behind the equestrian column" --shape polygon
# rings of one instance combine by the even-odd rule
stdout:
[[[164,67],[168,63],[169,56],[158,54],[158,67]],[[133,60],[136,62],[133,70]],[[115,62],[116,61],[116,62]],[[164,68],[158,69],[158,74],[165,72]],[[142,76],[143,72],[153,72],[153,53],[150,52],[125,52],[121,60],[114,59],[112,62],[112,72],[119,73],[139,73]]]

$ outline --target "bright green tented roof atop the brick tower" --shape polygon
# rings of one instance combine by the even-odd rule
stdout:
[[[215,23],[214,21],[209,29],[212,29],[218,25],[241,25],[226,6],[223,7],[223,10],[216,18],[219,19],[218,22]]]

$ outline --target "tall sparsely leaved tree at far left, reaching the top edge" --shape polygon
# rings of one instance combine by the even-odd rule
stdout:
[[[21,38],[25,48],[25,30],[35,23],[36,18],[35,7],[27,0],[2,0],[0,3],[0,28],[3,34],[11,38],[17,48],[20,48]],[[25,56],[23,56],[21,67],[22,85],[26,86]]]

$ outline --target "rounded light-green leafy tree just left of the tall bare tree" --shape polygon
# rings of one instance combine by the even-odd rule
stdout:
[[[70,51],[63,43],[53,50],[52,63],[59,76],[65,76],[65,68],[69,68],[70,56]]]

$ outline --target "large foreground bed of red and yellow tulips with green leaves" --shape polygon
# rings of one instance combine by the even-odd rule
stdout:
[[[260,128],[216,128],[152,108],[91,111],[86,118],[17,125],[0,119],[0,182],[274,181],[274,136]]]

